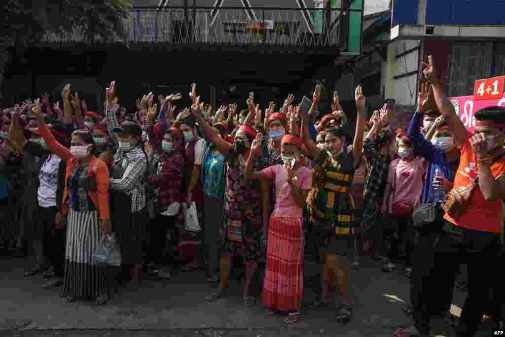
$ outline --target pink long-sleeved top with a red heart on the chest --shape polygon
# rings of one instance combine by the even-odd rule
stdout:
[[[396,163],[398,162],[398,165]],[[396,172],[394,168],[396,167]],[[389,197],[388,212],[394,202],[411,205],[413,208],[421,203],[423,191],[423,178],[426,174],[423,158],[417,157],[410,162],[395,159],[389,166],[388,184],[391,184],[391,196]],[[393,181],[395,180],[395,181]],[[385,198],[385,200],[387,200]]]

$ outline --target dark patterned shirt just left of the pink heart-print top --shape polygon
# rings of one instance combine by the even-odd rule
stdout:
[[[379,154],[380,145],[377,141],[377,135],[372,139],[365,139],[363,142],[363,155],[365,156],[368,175],[365,179],[364,198],[381,197],[379,195],[384,190],[389,172],[391,158]],[[382,190],[382,191],[381,191]]]

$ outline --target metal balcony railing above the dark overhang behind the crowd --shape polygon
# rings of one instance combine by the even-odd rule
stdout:
[[[124,25],[130,43],[335,47],[340,42],[341,15],[341,9],[142,7],[131,9]],[[82,39],[83,34],[75,31],[46,34],[43,42]]]

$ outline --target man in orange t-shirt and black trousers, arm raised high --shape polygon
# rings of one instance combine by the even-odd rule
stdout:
[[[458,218],[444,216],[443,231],[434,246],[437,258],[431,275],[441,280],[447,273],[456,273],[461,263],[467,264],[468,295],[456,333],[474,336],[484,311],[492,306],[489,289],[498,277],[501,202],[505,199],[505,108],[494,106],[477,111],[475,133],[470,134],[440,85],[433,57],[428,57],[428,64],[423,65],[436,104],[461,152],[453,188],[469,186],[472,181],[476,184],[463,214]],[[497,326],[500,313],[493,318]],[[414,319],[414,327],[395,335],[429,334],[429,322]]]

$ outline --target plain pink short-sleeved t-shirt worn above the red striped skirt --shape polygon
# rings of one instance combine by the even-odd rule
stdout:
[[[261,171],[269,179],[275,180],[275,209],[272,213],[278,217],[300,218],[303,209],[298,206],[291,195],[291,187],[286,182],[286,170],[284,165],[269,166]],[[293,175],[293,185],[302,189],[312,188],[312,170],[306,166],[300,166]]]

